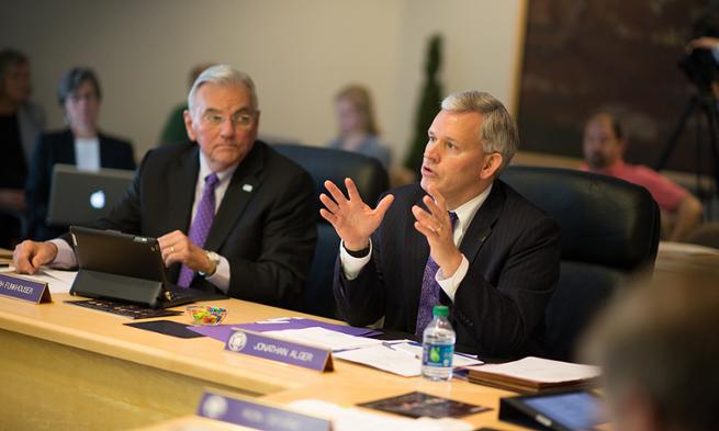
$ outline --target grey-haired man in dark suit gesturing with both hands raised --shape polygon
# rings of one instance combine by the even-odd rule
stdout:
[[[341,238],[335,297],[351,325],[422,336],[436,304],[451,307],[457,342],[482,355],[541,348],[559,277],[559,228],[497,179],[517,129],[499,101],[449,95],[428,131],[422,182],[372,209],[350,179],[332,182],[321,215]]]

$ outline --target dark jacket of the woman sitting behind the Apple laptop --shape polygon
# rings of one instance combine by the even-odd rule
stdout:
[[[104,134],[99,134],[99,138],[100,167],[135,169],[132,144]],[[38,138],[27,173],[25,201],[29,223],[25,237],[37,241],[55,238],[66,232],[68,228],[67,226],[48,226],[46,224],[55,163],[76,165],[75,137],[69,129],[48,133]]]

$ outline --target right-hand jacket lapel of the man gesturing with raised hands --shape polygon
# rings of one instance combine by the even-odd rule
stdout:
[[[492,227],[499,217],[499,212],[504,206],[504,186],[502,182],[497,180],[494,182],[492,192],[490,192],[486,201],[474,215],[474,218],[464,234],[462,243],[460,243],[459,250],[464,254],[464,257],[467,257],[468,261],[474,261],[476,253],[479,253],[480,249],[492,234]]]

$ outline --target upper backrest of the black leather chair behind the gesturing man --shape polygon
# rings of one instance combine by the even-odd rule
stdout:
[[[660,212],[647,189],[559,168],[512,166],[501,179],[557,220],[562,260],[619,270],[653,264]]]

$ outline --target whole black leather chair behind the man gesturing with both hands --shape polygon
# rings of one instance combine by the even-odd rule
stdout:
[[[576,170],[512,166],[501,179],[562,230],[560,280],[547,307],[547,353],[573,360],[578,336],[622,280],[653,268],[659,207],[644,188]]]

